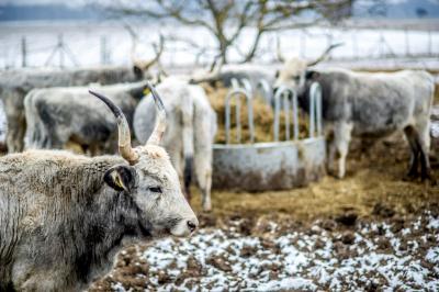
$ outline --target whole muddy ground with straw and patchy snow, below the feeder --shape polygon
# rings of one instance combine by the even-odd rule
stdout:
[[[90,291],[438,291],[438,184],[402,180],[399,135],[352,148],[342,180],[213,191],[211,214],[194,195],[198,234],[128,247]]]

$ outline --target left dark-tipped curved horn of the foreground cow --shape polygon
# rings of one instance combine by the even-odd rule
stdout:
[[[126,121],[125,115],[122,110],[117,108],[109,98],[89,90],[91,94],[102,100],[106,106],[113,112],[114,116],[117,121],[117,130],[119,130],[119,153],[121,156],[126,159],[131,165],[134,165],[138,160],[138,154],[134,151],[131,147],[131,133],[128,122]]]

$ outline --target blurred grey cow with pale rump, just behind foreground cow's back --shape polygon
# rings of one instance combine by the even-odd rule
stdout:
[[[146,81],[99,87],[122,109],[132,125]],[[24,99],[27,130],[25,148],[63,149],[74,142],[91,155],[113,154],[116,124],[109,110],[88,94],[86,87],[34,89]]]

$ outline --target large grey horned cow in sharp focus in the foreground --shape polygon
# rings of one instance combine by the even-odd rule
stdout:
[[[81,291],[115,254],[138,240],[185,237],[199,225],[160,138],[166,112],[132,148],[127,121],[110,99],[120,156],[29,150],[0,158],[0,291]]]

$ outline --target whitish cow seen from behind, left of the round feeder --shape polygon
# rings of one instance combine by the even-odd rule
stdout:
[[[216,114],[205,91],[200,86],[169,77],[157,86],[169,112],[169,127],[161,145],[169,151],[171,161],[190,199],[192,166],[202,193],[203,211],[211,211],[212,147],[216,133]],[[149,98],[140,101],[134,113],[134,133],[145,143],[156,119]]]

